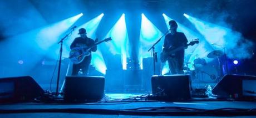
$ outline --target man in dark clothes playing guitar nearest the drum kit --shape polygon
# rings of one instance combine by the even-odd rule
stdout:
[[[171,58],[168,58],[168,64],[171,74],[184,74],[184,52],[185,49],[188,48],[186,46],[188,39],[186,39],[184,33],[177,32],[178,24],[175,22],[175,20],[170,20],[169,25],[171,32],[165,36],[163,53],[167,53],[168,49],[175,49],[175,47],[183,46],[183,49],[169,55]]]

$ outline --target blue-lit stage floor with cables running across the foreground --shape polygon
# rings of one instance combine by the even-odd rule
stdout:
[[[0,104],[0,117],[255,117],[255,101],[192,98],[148,100],[148,94],[105,94],[97,102],[32,101]]]

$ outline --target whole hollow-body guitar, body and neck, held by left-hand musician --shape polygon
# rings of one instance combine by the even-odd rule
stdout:
[[[86,45],[80,45],[75,48],[73,48],[70,51],[70,60],[73,62],[73,64],[79,64],[85,59],[85,57],[91,55],[91,52],[89,51],[91,48],[95,47],[96,45],[102,43],[102,42],[107,42],[109,40],[112,40],[111,38],[106,38],[104,40],[101,40],[100,42],[96,42],[90,47],[87,47]]]

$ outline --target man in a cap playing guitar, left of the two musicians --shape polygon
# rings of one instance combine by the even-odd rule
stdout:
[[[79,47],[79,46],[82,46],[82,45],[90,47],[93,44],[95,44],[95,42],[97,42],[97,39],[94,41],[93,39],[87,37],[87,35],[86,35],[87,33],[86,33],[85,28],[79,29],[78,34],[80,34],[80,37],[77,37],[73,40],[72,44],[70,45],[70,49],[75,48],[75,47]],[[89,50],[89,52],[96,52],[96,50],[97,50],[97,46],[91,48]],[[80,69],[82,70],[82,73],[83,73],[82,75],[87,75],[88,74],[88,67],[91,63],[91,59],[92,59],[92,56],[90,54],[87,57],[85,57],[85,59],[83,59],[81,63],[73,64],[72,75],[78,75],[78,71]]]

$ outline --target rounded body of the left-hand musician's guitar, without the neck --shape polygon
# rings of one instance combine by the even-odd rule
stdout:
[[[73,64],[79,64],[89,55],[91,55],[91,53],[83,47],[75,47],[70,51],[70,60]]]

